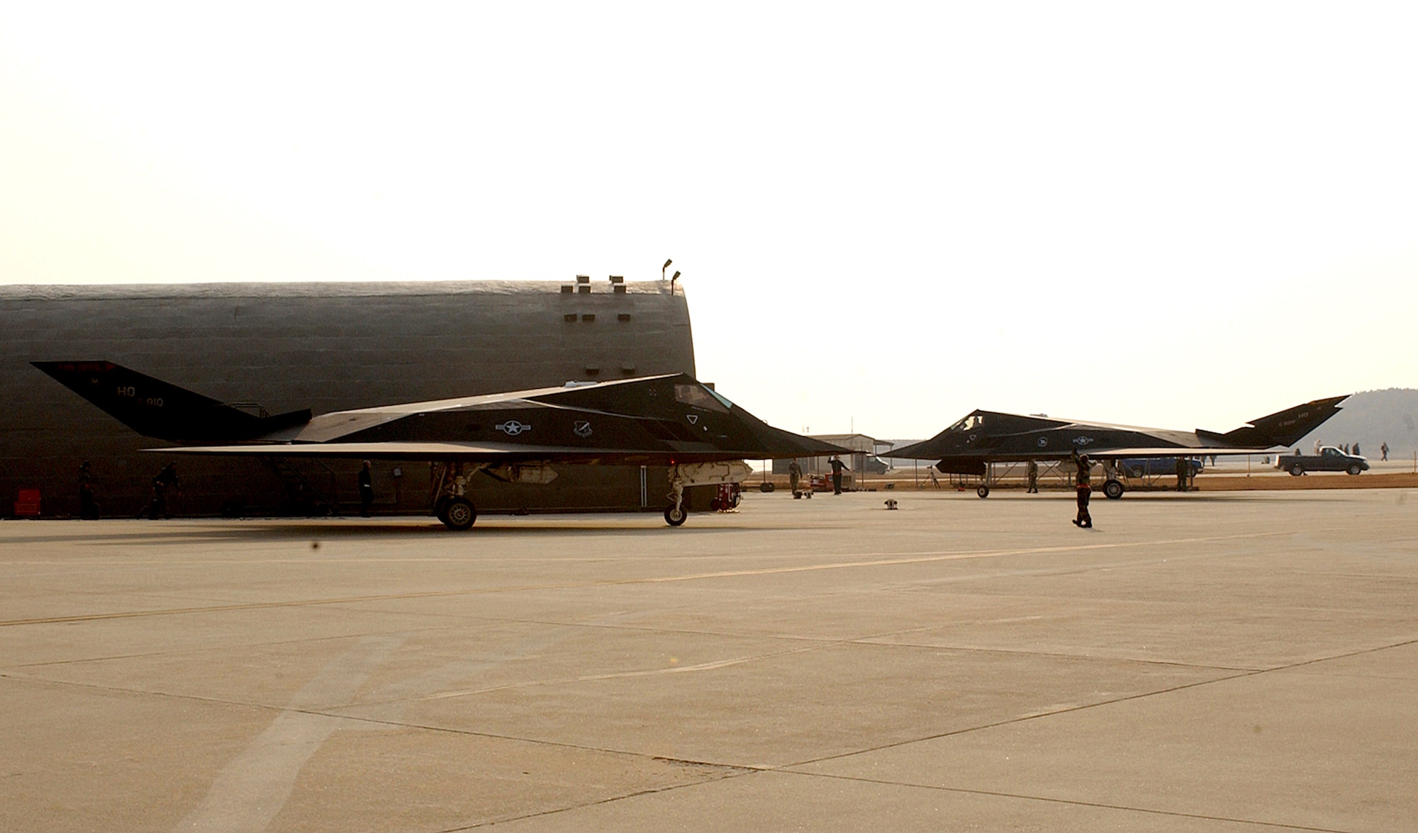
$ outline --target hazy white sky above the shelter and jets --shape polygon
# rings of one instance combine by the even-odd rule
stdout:
[[[0,6],[0,282],[683,272],[788,429],[1418,385],[1394,4]]]

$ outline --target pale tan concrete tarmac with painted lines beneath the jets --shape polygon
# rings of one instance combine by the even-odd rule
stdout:
[[[1418,827],[1418,490],[1093,509],[0,523],[0,830]]]

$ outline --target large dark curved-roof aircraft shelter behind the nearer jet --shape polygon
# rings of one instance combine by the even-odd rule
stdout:
[[[40,489],[78,514],[92,462],[104,516],[130,517],[167,458],[30,366],[108,360],[233,404],[316,414],[391,402],[695,373],[669,282],[186,283],[0,288],[0,516]],[[179,462],[179,514],[305,514],[357,504],[354,460]],[[546,486],[471,480],[479,511],[664,509],[662,469],[562,466]],[[428,463],[374,463],[376,511],[428,507]]]

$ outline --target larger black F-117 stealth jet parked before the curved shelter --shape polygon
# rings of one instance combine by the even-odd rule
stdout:
[[[668,466],[665,521],[678,527],[685,487],[740,483],[746,459],[849,453],[773,428],[685,374],[313,416],[251,414],[112,361],[31,364],[138,434],[186,443],[166,452],[430,460],[438,465],[434,514],[454,530],[478,517],[465,492],[476,472],[550,483],[552,465]]]

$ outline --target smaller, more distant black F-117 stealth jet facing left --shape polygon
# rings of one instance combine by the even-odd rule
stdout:
[[[1059,460],[1088,455],[1112,469],[1123,458],[1177,458],[1195,455],[1255,455],[1276,446],[1289,446],[1340,411],[1349,397],[1314,400],[1269,416],[1217,434],[1214,431],[1168,431],[1132,428],[1076,419],[1051,419],[1042,415],[973,411],[936,436],[896,448],[886,456],[939,460],[936,469],[947,475],[986,477],[977,487],[980,497],[990,494],[990,463]],[[1109,477],[1103,494],[1123,496],[1123,482]]]

